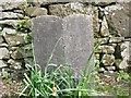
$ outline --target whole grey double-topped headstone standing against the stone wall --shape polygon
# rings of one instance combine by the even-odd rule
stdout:
[[[32,30],[36,62],[43,70],[57,42],[50,63],[68,63],[75,73],[84,70],[94,48],[92,15],[38,16],[33,20]]]

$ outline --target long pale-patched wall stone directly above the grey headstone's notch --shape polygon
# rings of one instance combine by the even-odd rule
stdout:
[[[90,14],[92,8],[84,7],[84,4],[79,2],[72,2],[67,4],[53,4],[49,5],[49,13],[51,15],[67,16],[70,14]]]

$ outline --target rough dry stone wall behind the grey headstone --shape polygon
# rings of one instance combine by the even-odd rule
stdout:
[[[102,41],[95,61],[102,61],[99,72],[130,68],[130,2],[43,2],[27,0],[0,3],[0,68],[21,73],[33,63],[29,19],[39,15],[64,17],[92,14],[94,40]],[[12,74],[12,75],[13,75]]]

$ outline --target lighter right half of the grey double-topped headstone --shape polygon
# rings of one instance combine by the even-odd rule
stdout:
[[[86,65],[94,46],[93,35],[91,15],[76,14],[63,19],[66,60],[76,73]]]

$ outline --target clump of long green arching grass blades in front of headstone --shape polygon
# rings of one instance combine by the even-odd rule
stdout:
[[[33,98],[34,97],[48,98],[51,96],[52,97],[68,96],[70,98],[75,98],[81,96],[102,95],[94,90],[94,88],[92,88],[88,83],[95,75],[96,68],[90,74],[87,74],[90,65],[92,63],[92,59],[94,57],[94,52],[99,46],[99,44],[97,44],[94,50],[92,51],[85,65],[85,70],[82,74],[80,74],[81,77],[78,81],[74,74],[70,71],[70,66],[68,64],[57,65],[50,63],[50,60],[53,57],[53,52],[60,39],[55,45],[44,72],[40,70],[40,66],[36,64],[35,54],[34,65],[26,64],[26,68],[29,71],[29,75],[24,73],[25,78],[23,79],[23,82],[25,83],[25,87],[22,89],[19,97],[29,96]],[[49,66],[55,66],[55,70],[52,70],[51,72],[48,71]]]

